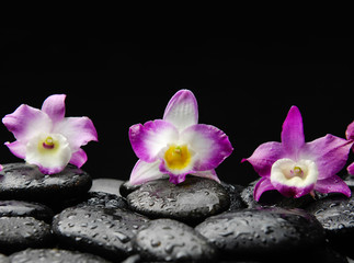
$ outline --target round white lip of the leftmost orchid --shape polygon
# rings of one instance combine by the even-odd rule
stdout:
[[[48,137],[55,142],[53,149],[43,147],[43,141]],[[26,145],[25,161],[38,165],[41,172],[53,174],[60,172],[70,161],[71,149],[68,140],[60,134],[39,134]]]

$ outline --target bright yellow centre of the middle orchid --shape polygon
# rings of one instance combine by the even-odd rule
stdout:
[[[164,152],[164,161],[169,169],[182,170],[191,162],[191,152],[187,146],[171,145]]]

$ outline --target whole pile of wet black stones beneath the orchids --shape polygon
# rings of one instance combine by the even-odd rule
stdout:
[[[134,186],[4,164],[0,262],[353,262],[354,198],[269,192],[256,203],[255,183]]]

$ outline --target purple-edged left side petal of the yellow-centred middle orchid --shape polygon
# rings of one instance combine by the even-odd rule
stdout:
[[[135,155],[146,162],[153,162],[158,153],[179,139],[179,132],[173,124],[155,119],[144,125],[136,124],[129,128],[129,139]]]

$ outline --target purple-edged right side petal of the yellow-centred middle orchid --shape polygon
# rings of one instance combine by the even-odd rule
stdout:
[[[218,167],[233,148],[228,136],[213,125],[196,124],[181,133],[181,140],[196,152],[194,171],[206,171]]]

